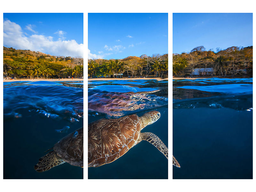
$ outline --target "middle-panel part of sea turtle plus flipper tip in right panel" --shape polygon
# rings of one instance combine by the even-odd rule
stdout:
[[[142,140],[153,144],[168,159],[168,148],[159,137],[151,132],[140,132],[159,118],[160,112],[150,111],[140,117],[134,114],[119,119],[100,119],[89,124],[88,167],[111,163]]]

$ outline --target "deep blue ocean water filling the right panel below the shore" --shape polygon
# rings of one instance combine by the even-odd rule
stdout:
[[[173,179],[252,179],[252,78],[173,80]]]

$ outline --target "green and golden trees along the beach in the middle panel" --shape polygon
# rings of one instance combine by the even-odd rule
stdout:
[[[88,60],[88,77],[114,77],[114,74],[123,74],[124,77],[167,77],[168,54]]]

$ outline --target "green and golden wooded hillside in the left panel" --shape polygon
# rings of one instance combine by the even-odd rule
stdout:
[[[7,78],[81,78],[83,58],[52,56],[30,50],[4,47],[4,77]]]

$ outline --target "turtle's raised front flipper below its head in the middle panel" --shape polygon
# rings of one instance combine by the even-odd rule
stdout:
[[[168,148],[164,145],[163,141],[159,137],[157,137],[154,133],[150,133],[150,132],[140,133],[140,140],[146,140],[152,145],[154,145],[168,159]]]

